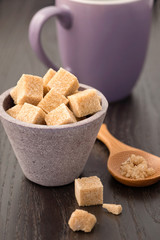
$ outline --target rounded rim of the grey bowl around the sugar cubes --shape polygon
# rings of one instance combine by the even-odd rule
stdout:
[[[95,89],[93,87],[90,87],[86,84],[79,84],[80,88],[85,89]],[[28,128],[33,128],[33,129],[45,129],[45,130],[51,130],[51,129],[66,129],[66,128],[74,128],[74,127],[80,127],[82,125],[85,124],[89,124],[91,122],[93,122],[94,120],[100,118],[103,114],[106,114],[107,109],[108,109],[108,101],[106,99],[106,97],[97,89],[95,89],[98,93],[98,95],[101,97],[101,106],[102,109],[98,112],[96,112],[95,114],[91,115],[90,117],[80,120],[79,122],[75,122],[75,123],[70,123],[70,124],[64,124],[64,125],[54,125],[54,126],[48,126],[48,125],[40,125],[40,124],[32,124],[32,123],[26,123],[20,120],[17,120],[13,117],[11,117],[5,110],[3,107],[4,101],[5,99],[9,96],[10,91],[13,89],[14,87],[6,90],[5,92],[3,92],[0,95],[0,118],[5,119],[6,121],[19,125],[19,126],[23,126],[23,127],[28,127]]]

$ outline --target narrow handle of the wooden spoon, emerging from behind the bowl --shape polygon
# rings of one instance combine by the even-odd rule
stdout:
[[[108,131],[106,124],[102,124],[97,138],[102,141],[110,151],[110,155],[115,153],[125,151],[126,148],[129,148],[128,145],[120,142],[118,139],[112,136],[112,134]]]

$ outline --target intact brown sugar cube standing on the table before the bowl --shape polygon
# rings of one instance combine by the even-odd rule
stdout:
[[[79,206],[103,204],[103,185],[96,177],[75,179],[75,197]]]

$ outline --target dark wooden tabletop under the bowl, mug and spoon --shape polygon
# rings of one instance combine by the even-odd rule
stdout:
[[[140,79],[127,99],[111,104],[105,122],[121,141],[160,156],[160,2],[153,9],[149,50]],[[43,76],[46,68],[28,42],[33,14],[52,0],[0,0],[0,93],[15,85],[22,73]],[[43,30],[43,43],[60,66],[54,20]],[[52,40],[51,40],[52,39]],[[121,203],[114,216],[101,206],[85,208],[97,217],[94,230],[72,232],[68,219],[76,208],[73,184],[41,187],[28,181],[0,125],[0,240],[159,240],[160,183],[126,187],[107,171],[107,148],[96,141],[83,176],[97,175],[104,184],[104,202]]]

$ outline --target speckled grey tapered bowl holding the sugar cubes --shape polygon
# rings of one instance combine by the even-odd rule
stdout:
[[[80,85],[81,89],[91,88]],[[21,122],[5,111],[12,107],[10,90],[0,96],[0,117],[20,167],[29,180],[43,186],[71,183],[83,171],[108,108],[68,125],[44,126]]]

